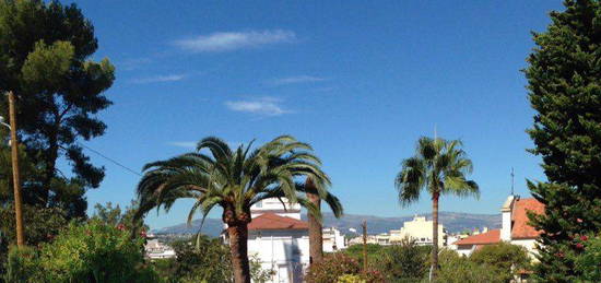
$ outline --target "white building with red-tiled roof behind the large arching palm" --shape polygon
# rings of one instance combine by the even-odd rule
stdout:
[[[248,255],[274,271],[273,283],[303,282],[309,264],[308,224],[300,221],[300,205],[285,203],[285,209],[278,199],[257,203],[248,224]]]

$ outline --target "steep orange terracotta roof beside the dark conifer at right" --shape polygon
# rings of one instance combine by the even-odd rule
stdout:
[[[511,239],[529,239],[537,238],[541,234],[540,231],[535,231],[534,227],[528,225],[528,211],[532,211],[537,214],[544,213],[544,204],[538,200],[519,199],[514,203],[514,213],[511,214],[511,221],[514,225],[511,227]]]

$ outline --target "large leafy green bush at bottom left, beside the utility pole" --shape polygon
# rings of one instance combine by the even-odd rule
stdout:
[[[21,282],[157,282],[144,266],[143,243],[98,221],[71,223],[39,252],[15,251],[7,268]]]

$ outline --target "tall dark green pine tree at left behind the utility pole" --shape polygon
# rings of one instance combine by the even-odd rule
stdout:
[[[110,105],[104,91],[115,68],[90,59],[97,47],[92,23],[75,4],[0,1],[0,93],[15,93],[20,139],[39,168],[30,182],[36,196],[25,193],[25,201],[60,205],[70,216],[85,216],[83,193],[104,177],[78,143],[106,129],[96,114]],[[0,99],[0,115],[8,117],[7,109]],[[58,172],[59,158],[71,165],[71,177]]]

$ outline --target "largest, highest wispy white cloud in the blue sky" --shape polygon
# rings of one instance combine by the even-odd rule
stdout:
[[[222,32],[186,38],[174,44],[193,52],[219,52],[252,48],[261,45],[292,43],[296,34],[284,30]]]

